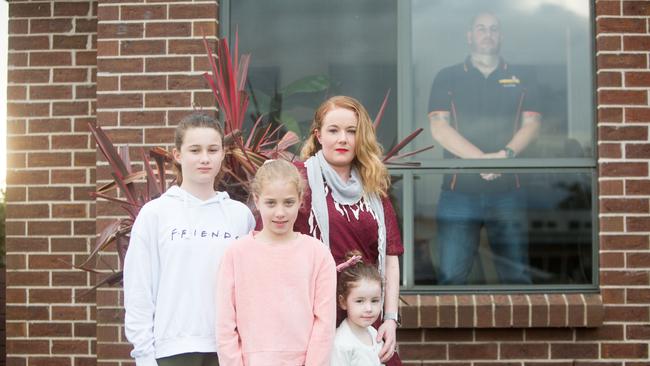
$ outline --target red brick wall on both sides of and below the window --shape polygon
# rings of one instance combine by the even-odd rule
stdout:
[[[595,8],[601,293],[411,296],[399,331],[407,364],[650,364],[650,1]],[[200,39],[215,39],[217,10],[214,0],[11,1],[9,365],[131,364],[121,291],[74,297],[96,279],[69,263],[120,214],[103,202],[95,214],[88,198],[108,173],[85,125],[96,116],[133,151],[168,145],[193,104],[213,105]]]

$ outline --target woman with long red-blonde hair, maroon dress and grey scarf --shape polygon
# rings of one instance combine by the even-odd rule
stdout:
[[[372,120],[358,100],[335,96],[316,110],[310,131],[301,152],[305,162],[298,163],[308,189],[295,230],[328,245],[337,264],[356,250],[377,266],[383,281],[383,317],[374,324],[377,341],[384,342],[379,357],[386,365],[401,365],[395,347],[398,256],[404,247]],[[339,312],[337,324],[344,317]]]

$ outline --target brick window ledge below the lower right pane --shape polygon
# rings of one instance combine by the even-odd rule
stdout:
[[[575,328],[603,323],[600,294],[403,295],[402,328]]]

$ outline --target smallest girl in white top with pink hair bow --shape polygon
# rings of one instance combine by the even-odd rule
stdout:
[[[352,251],[337,270],[337,300],[347,317],[336,329],[332,366],[378,366],[381,340],[372,324],[381,312],[381,276]]]

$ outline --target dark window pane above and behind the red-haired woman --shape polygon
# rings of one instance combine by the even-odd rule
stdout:
[[[240,52],[252,55],[252,114],[271,113],[305,136],[327,97],[355,97],[374,118],[390,89],[378,135],[385,148],[394,144],[395,1],[233,0],[230,8],[231,34],[238,30]]]

